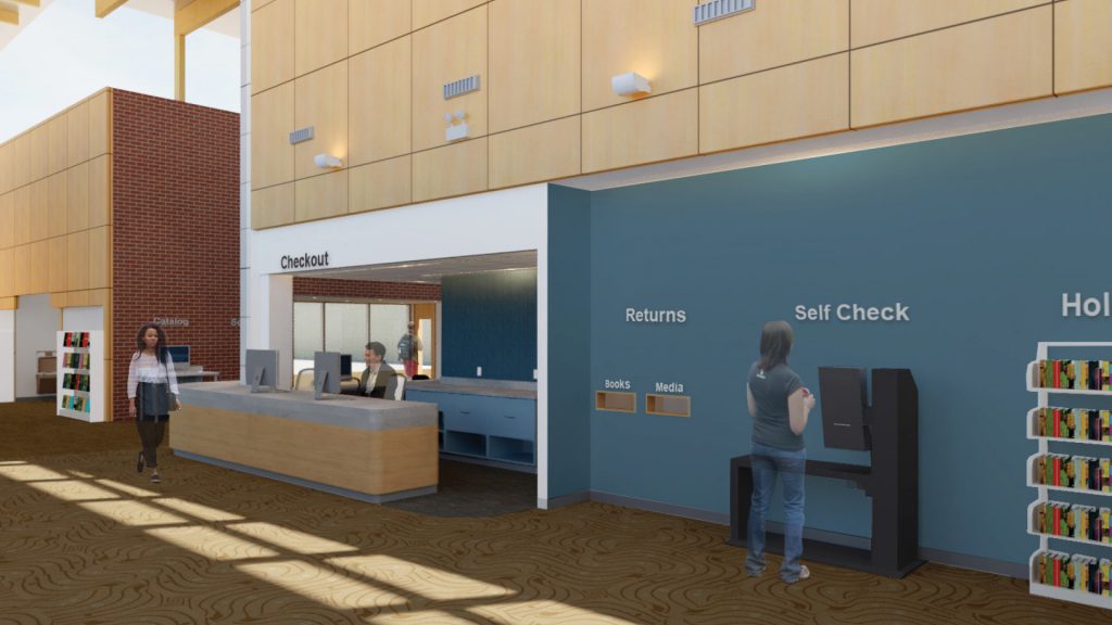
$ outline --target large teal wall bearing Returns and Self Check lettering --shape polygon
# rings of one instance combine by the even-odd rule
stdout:
[[[791,364],[812,388],[818,366],[912,369],[920,544],[1025,563],[1036,398],[1023,371],[1039,340],[1112,336],[1112,318],[1061,316],[1063,292],[1112,290],[1110,172],[1102,116],[592,194],[589,237],[553,242],[590,268],[554,264],[550,280],[589,280],[587,389],[629,379],[639,413],[590,411],[590,489],[727,514],[728,460],[749,447],[745,374],[764,321],[788,319]],[[800,304],[896,301],[911,323],[793,318]],[[629,324],[626,307],[684,309],[687,323]],[[554,368],[550,387],[582,388],[577,374]],[[656,381],[684,384],[693,417],[645,415]],[[867,463],[825,449],[817,413],[805,439],[813,459]],[[808,526],[870,535],[860,492],[807,488]]]

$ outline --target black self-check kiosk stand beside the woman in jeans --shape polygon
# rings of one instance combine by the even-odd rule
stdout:
[[[825,369],[820,377],[825,381],[828,371],[861,371],[860,369]],[[843,376],[844,377],[844,376]],[[861,377],[861,381],[864,378]],[[843,385],[843,390],[844,390]],[[834,391],[837,389],[834,388]],[[824,384],[820,399],[832,393]],[[864,410],[864,437],[858,443],[844,443],[837,423],[840,416],[823,401],[824,438],[827,447],[872,448],[872,466],[807,460],[806,474],[834,479],[848,479],[873,499],[872,548],[861,549],[846,545],[804,538],[806,559],[886,577],[900,578],[923,564],[919,559],[919,389],[910,369],[873,369],[873,405]],[[833,440],[832,440],[833,439]],[[843,443],[838,445],[840,442]],[[834,443],[834,444],[832,444]],[[749,520],[749,502],[753,497],[753,464],[751,456],[738,456],[729,462],[729,540],[745,546]],[[768,532],[766,550],[784,553],[784,537]]]

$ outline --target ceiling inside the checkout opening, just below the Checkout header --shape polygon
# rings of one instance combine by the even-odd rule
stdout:
[[[425,282],[438,285],[444,276],[484,274],[487,271],[507,271],[512,269],[533,269],[536,268],[536,250],[526,250],[509,251],[505,254],[486,254],[481,256],[408,260],[405,262],[393,262],[389,265],[321,269],[317,271],[301,271],[291,275],[302,276],[306,278],[331,278],[338,280]]]

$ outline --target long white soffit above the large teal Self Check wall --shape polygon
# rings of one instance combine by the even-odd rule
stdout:
[[[1110,112],[1112,89],[1101,89],[605,173],[588,173],[553,183],[598,191]]]

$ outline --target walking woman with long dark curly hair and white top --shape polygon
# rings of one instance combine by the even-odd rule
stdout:
[[[150,467],[150,480],[162,480],[158,473],[158,446],[166,436],[170,410],[178,407],[178,377],[173,359],[166,348],[166,330],[157,324],[147,324],[136,335],[136,353],[128,367],[128,414],[136,419],[142,452],[136,470]]]

